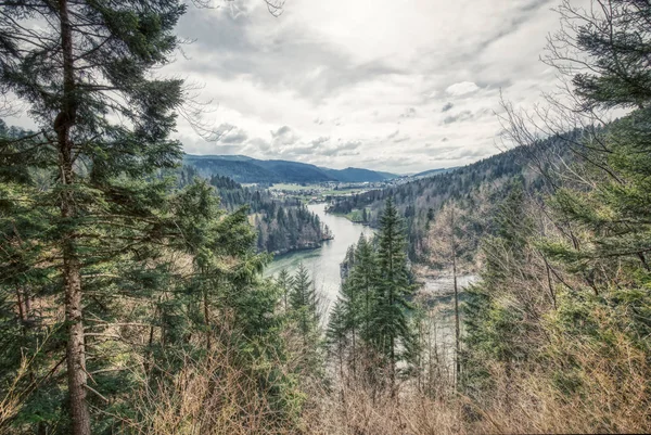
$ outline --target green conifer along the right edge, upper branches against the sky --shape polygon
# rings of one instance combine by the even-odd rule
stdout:
[[[560,13],[577,31],[552,39],[546,61],[571,76],[579,108],[635,111],[603,129],[586,131],[578,145],[569,145],[579,157],[582,179],[556,192],[551,205],[577,232],[587,231],[593,240],[573,233],[571,243],[548,243],[545,251],[580,270],[595,294],[620,285],[621,268],[630,276],[639,269],[643,285],[651,281],[651,200],[646,193],[651,188],[649,5],[620,0],[583,11],[565,3]],[[559,51],[567,41],[576,51]],[[589,68],[584,67],[585,59]]]

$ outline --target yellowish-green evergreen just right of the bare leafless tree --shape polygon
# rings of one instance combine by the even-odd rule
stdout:
[[[525,306],[523,295],[511,294],[519,291],[514,281],[535,279],[531,269],[522,264],[531,258],[534,225],[527,214],[521,183],[513,183],[499,204],[494,218],[494,233],[483,240],[485,267],[482,280],[465,289],[463,342],[469,351],[463,354],[467,373],[461,381],[471,393],[480,387],[486,388],[483,384],[489,383],[487,361],[498,361],[510,372],[514,361],[526,358],[526,343],[521,337],[526,335],[528,327],[523,312],[532,312],[533,308]],[[515,298],[518,302],[511,302],[511,306],[502,303],[502,299]]]

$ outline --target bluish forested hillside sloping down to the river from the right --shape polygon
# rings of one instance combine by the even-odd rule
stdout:
[[[538,140],[532,146],[518,146],[492,157],[454,170],[436,174],[388,189],[373,190],[350,197],[337,199],[329,207],[331,213],[349,214],[359,210],[362,221],[372,227],[379,226],[382,206],[387,197],[393,197],[396,207],[406,218],[409,234],[409,255],[412,259],[427,263],[427,231],[441,208],[448,200],[458,201],[476,219],[472,230],[474,240],[483,234],[486,221],[494,212],[493,206],[505,197],[511,180],[519,179],[531,192],[547,189],[544,178],[558,166],[561,159],[571,159],[572,154],[564,150],[567,141],[576,141],[582,132],[559,133]],[[540,156],[548,156],[542,165],[535,165]],[[474,250],[476,252],[476,243]]]

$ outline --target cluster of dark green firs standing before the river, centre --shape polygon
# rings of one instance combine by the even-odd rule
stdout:
[[[340,359],[348,354],[354,372],[362,356],[382,361],[391,370],[393,385],[398,362],[412,358],[416,346],[409,319],[414,285],[401,219],[391,200],[376,239],[369,241],[362,234],[348,250],[342,269],[345,280],[328,327],[331,348]]]

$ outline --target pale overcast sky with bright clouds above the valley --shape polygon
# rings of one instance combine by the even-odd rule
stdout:
[[[527,108],[556,82],[539,56],[560,0],[286,0],[280,16],[264,0],[214,1],[189,8],[177,29],[189,43],[161,71],[187,80],[220,132],[206,141],[180,118],[191,154],[467,165],[499,152],[500,91]]]

